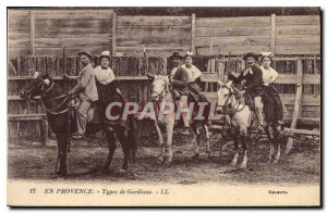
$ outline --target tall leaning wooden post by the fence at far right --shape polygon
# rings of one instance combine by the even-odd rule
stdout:
[[[302,80],[303,80],[303,64],[302,60],[298,59],[296,64],[296,96],[295,96],[295,102],[294,102],[294,111],[292,116],[292,123],[290,128],[296,128],[296,121],[299,117],[299,112],[301,108],[301,100],[302,100]],[[293,138],[288,139],[288,143],[284,150],[284,154],[290,153],[291,149],[293,147]]]

